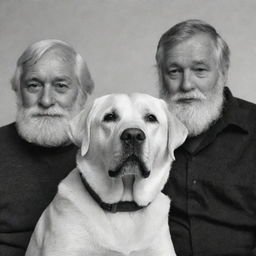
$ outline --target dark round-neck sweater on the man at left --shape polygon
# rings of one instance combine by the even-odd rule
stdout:
[[[44,148],[0,128],[0,256],[24,256],[36,222],[75,167],[74,145]]]

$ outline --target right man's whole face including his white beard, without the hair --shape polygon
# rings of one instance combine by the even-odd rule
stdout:
[[[170,110],[187,126],[190,136],[200,134],[220,116],[224,77],[209,36],[198,34],[169,49],[162,82]]]

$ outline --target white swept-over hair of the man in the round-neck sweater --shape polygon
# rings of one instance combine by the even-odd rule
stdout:
[[[24,68],[34,65],[46,52],[52,49],[61,50],[63,54],[60,57],[74,65],[74,71],[82,92],[85,95],[87,95],[87,93],[91,94],[94,89],[94,83],[85,61],[73,47],[66,42],[56,39],[42,40],[28,46],[17,61],[16,70],[11,79],[12,89],[16,92],[20,89],[20,80]]]

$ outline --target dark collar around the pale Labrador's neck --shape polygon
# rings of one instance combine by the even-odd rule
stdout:
[[[130,201],[120,201],[120,202],[113,203],[113,204],[108,204],[108,203],[103,202],[101,200],[101,198],[99,197],[99,195],[91,188],[91,186],[89,185],[89,183],[87,182],[87,180],[85,179],[83,174],[81,172],[79,172],[79,173],[80,173],[80,177],[81,177],[84,187],[86,188],[88,193],[91,195],[91,197],[99,204],[99,206],[103,210],[111,212],[111,213],[134,212],[134,211],[141,210],[145,207],[145,206],[139,206],[134,201],[131,201],[131,202]]]

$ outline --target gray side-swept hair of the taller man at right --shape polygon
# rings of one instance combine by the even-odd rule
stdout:
[[[197,34],[206,34],[213,40],[216,47],[219,70],[223,75],[227,74],[230,65],[230,50],[227,43],[214,27],[202,20],[191,19],[176,24],[161,36],[156,51],[159,75],[161,75],[165,53],[175,45]]]

